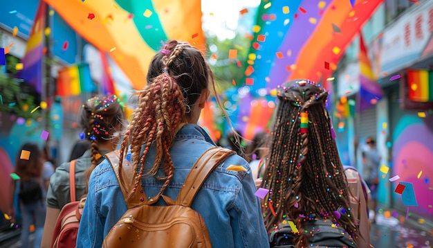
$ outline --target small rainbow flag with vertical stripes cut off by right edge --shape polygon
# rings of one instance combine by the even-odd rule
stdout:
[[[433,102],[433,71],[407,70],[409,94],[414,102]]]

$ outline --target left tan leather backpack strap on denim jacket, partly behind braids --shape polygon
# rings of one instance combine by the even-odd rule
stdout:
[[[122,173],[119,175],[119,158],[120,158],[120,151],[114,150],[113,152],[109,152],[105,154],[105,157],[110,162],[111,167],[113,168],[114,174],[116,174],[116,178],[118,179],[120,190],[122,191],[123,197],[125,198],[125,203],[127,204],[128,209],[133,208],[134,206],[138,206],[142,204],[142,201],[140,200],[140,195],[133,194],[133,197],[131,199],[128,199],[129,193],[132,192],[133,188],[133,166],[127,159],[124,159],[122,163]],[[122,178],[120,178],[122,177]],[[140,191],[141,185],[139,184],[138,191]],[[143,191],[144,193],[144,191]],[[145,197],[144,194],[142,194],[142,197]],[[146,199],[146,197],[145,197]]]

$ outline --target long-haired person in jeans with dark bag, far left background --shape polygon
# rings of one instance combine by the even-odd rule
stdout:
[[[45,219],[45,194],[42,179],[43,160],[42,151],[36,143],[24,143],[17,153],[15,173],[19,180],[11,181],[10,211],[8,213],[12,223],[15,222],[15,187],[19,187],[19,209],[21,213],[21,247],[30,247],[30,226],[34,227],[35,239],[33,247],[41,244]]]

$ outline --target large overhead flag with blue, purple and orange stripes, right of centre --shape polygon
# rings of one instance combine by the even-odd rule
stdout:
[[[286,80],[326,80],[383,0],[263,0],[250,48],[253,89]],[[250,70],[251,71],[251,70]],[[249,74],[249,73],[248,73]]]

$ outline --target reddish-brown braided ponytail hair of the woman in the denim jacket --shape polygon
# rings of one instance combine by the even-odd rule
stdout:
[[[162,166],[165,176],[159,194],[173,178],[174,166],[169,149],[178,127],[191,116],[191,109],[203,89],[213,82],[213,74],[201,51],[186,42],[171,40],[156,53],[147,72],[147,85],[138,91],[138,106],[120,148],[119,172],[128,149],[134,166],[134,187],[128,199],[135,194],[142,176],[156,176]],[[153,166],[145,175],[145,160],[151,145],[156,145]],[[127,182],[125,182],[127,183]],[[127,200],[127,199],[126,199]]]

